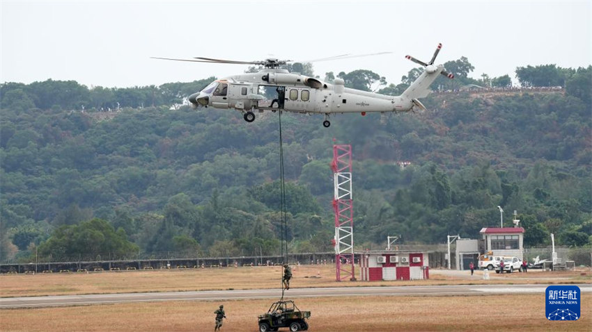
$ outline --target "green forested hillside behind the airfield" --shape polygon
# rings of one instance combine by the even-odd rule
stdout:
[[[504,225],[517,210],[526,245],[549,233],[590,244],[592,69],[572,74],[566,89],[443,92],[423,100],[425,113],[336,115],[330,128],[320,116],[284,113],[290,251],[332,250],[334,138],[352,144],[361,247],[395,234],[476,238],[499,225],[497,206]],[[0,259],[35,246],[54,256],[275,253],[278,113],[249,124],[234,110],[171,107],[210,79],[163,85],[166,93],[1,85]],[[111,101],[88,97],[99,92]],[[153,103],[117,106],[114,94]]]

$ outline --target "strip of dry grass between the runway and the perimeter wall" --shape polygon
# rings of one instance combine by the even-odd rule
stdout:
[[[0,297],[38,295],[102,294],[123,292],[171,292],[183,290],[249,290],[279,288],[281,267],[228,267],[223,269],[171,269],[71,274],[3,274]],[[430,279],[420,281],[350,282],[335,281],[333,265],[302,265],[293,269],[293,288],[361,287],[377,285],[454,285],[491,283],[592,283],[592,270],[490,274],[430,270]]]

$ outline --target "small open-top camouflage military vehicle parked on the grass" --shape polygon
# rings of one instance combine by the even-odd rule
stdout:
[[[281,327],[288,327],[289,331],[306,331],[309,324],[305,319],[310,317],[311,312],[300,311],[294,301],[277,301],[267,313],[259,315],[259,331],[277,331]]]

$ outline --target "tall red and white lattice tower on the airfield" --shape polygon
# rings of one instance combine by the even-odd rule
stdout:
[[[336,280],[355,280],[354,210],[352,200],[352,146],[334,145],[331,163],[334,179]]]

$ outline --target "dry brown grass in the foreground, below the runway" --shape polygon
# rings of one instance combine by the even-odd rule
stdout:
[[[581,319],[550,322],[545,294],[467,297],[297,299],[310,310],[309,331],[591,331],[592,294],[582,294]],[[258,331],[269,300],[226,301],[221,331]],[[219,302],[176,301],[0,310],[6,332],[212,331]],[[284,330],[285,331],[285,330]]]

